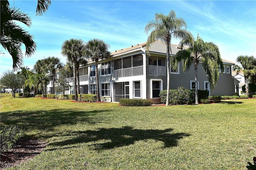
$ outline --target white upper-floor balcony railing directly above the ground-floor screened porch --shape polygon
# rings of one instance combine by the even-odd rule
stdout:
[[[130,68],[123,68],[120,70],[114,70],[114,78],[131,77],[143,75],[143,66],[136,66]]]

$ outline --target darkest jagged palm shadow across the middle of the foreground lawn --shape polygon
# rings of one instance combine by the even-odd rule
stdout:
[[[95,142],[89,146],[95,150],[104,150],[133,145],[136,141],[153,139],[155,141],[162,141],[164,147],[174,147],[178,145],[179,139],[190,136],[187,133],[172,133],[172,131],[173,129],[133,129],[133,127],[130,126],[121,128],[101,128],[98,130],[77,131],[70,135],[78,137],[50,145],[66,146]]]

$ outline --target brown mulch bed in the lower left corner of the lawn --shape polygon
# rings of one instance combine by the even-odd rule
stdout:
[[[19,166],[20,164],[33,159],[46,148],[47,144],[36,138],[31,139],[23,137],[16,142],[15,146],[14,149],[1,153],[0,169]]]

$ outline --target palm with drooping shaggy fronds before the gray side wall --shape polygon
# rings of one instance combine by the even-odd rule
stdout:
[[[213,89],[219,78],[219,66],[222,72],[224,71],[224,66],[222,59],[220,58],[220,51],[218,46],[212,42],[204,42],[202,38],[197,35],[197,38],[190,37],[188,39],[183,39],[180,42],[180,46],[187,45],[188,48],[178,51],[174,57],[173,65],[174,69],[177,69],[177,61],[182,61],[183,71],[189,70],[192,63],[194,63],[195,72],[195,100],[198,104],[198,78],[197,78],[197,68],[200,60],[203,62],[203,68],[208,75],[208,80],[210,83],[210,89]]]

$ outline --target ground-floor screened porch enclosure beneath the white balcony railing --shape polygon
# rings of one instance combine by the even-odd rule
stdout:
[[[114,102],[121,98],[129,98],[129,82],[114,83]]]

